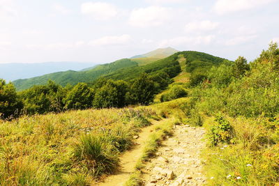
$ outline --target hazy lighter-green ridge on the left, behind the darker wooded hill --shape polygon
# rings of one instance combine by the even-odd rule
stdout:
[[[130,66],[136,66],[135,61],[130,59],[121,59],[113,63],[107,63],[104,65],[96,65],[95,68],[86,71],[73,71],[68,70],[66,72],[55,72],[52,74],[43,75],[40,77],[33,77],[30,79],[18,79],[13,82],[18,91],[30,88],[34,85],[46,84],[49,79],[52,79],[57,84],[66,86],[66,84],[77,84],[79,82],[92,82],[102,75],[109,74],[115,70],[126,68]]]

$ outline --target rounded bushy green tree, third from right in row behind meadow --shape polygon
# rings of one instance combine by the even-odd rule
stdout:
[[[88,109],[92,107],[93,91],[87,84],[79,83],[68,93],[66,109]]]

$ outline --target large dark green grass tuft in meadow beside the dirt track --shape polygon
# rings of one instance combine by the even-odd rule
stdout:
[[[80,143],[74,146],[74,155],[88,169],[93,169],[94,176],[113,173],[119,163],[116,148],[100,135],[84,134]]]

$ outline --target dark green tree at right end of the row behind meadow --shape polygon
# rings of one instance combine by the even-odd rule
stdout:
[[[130,98],[133,104],[149,104],[156,93],[155,83],[143,73],[131,86]]]

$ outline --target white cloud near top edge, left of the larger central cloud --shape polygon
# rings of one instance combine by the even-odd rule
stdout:
[[[90,15],[95,20],[110,20],[118,14],[118,10],[110,3],[82,3],[82,14]]]

